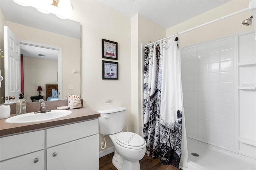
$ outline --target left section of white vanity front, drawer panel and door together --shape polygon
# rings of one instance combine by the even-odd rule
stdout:
[[[0,138],[1,170],[44,170],[45,131]]]

